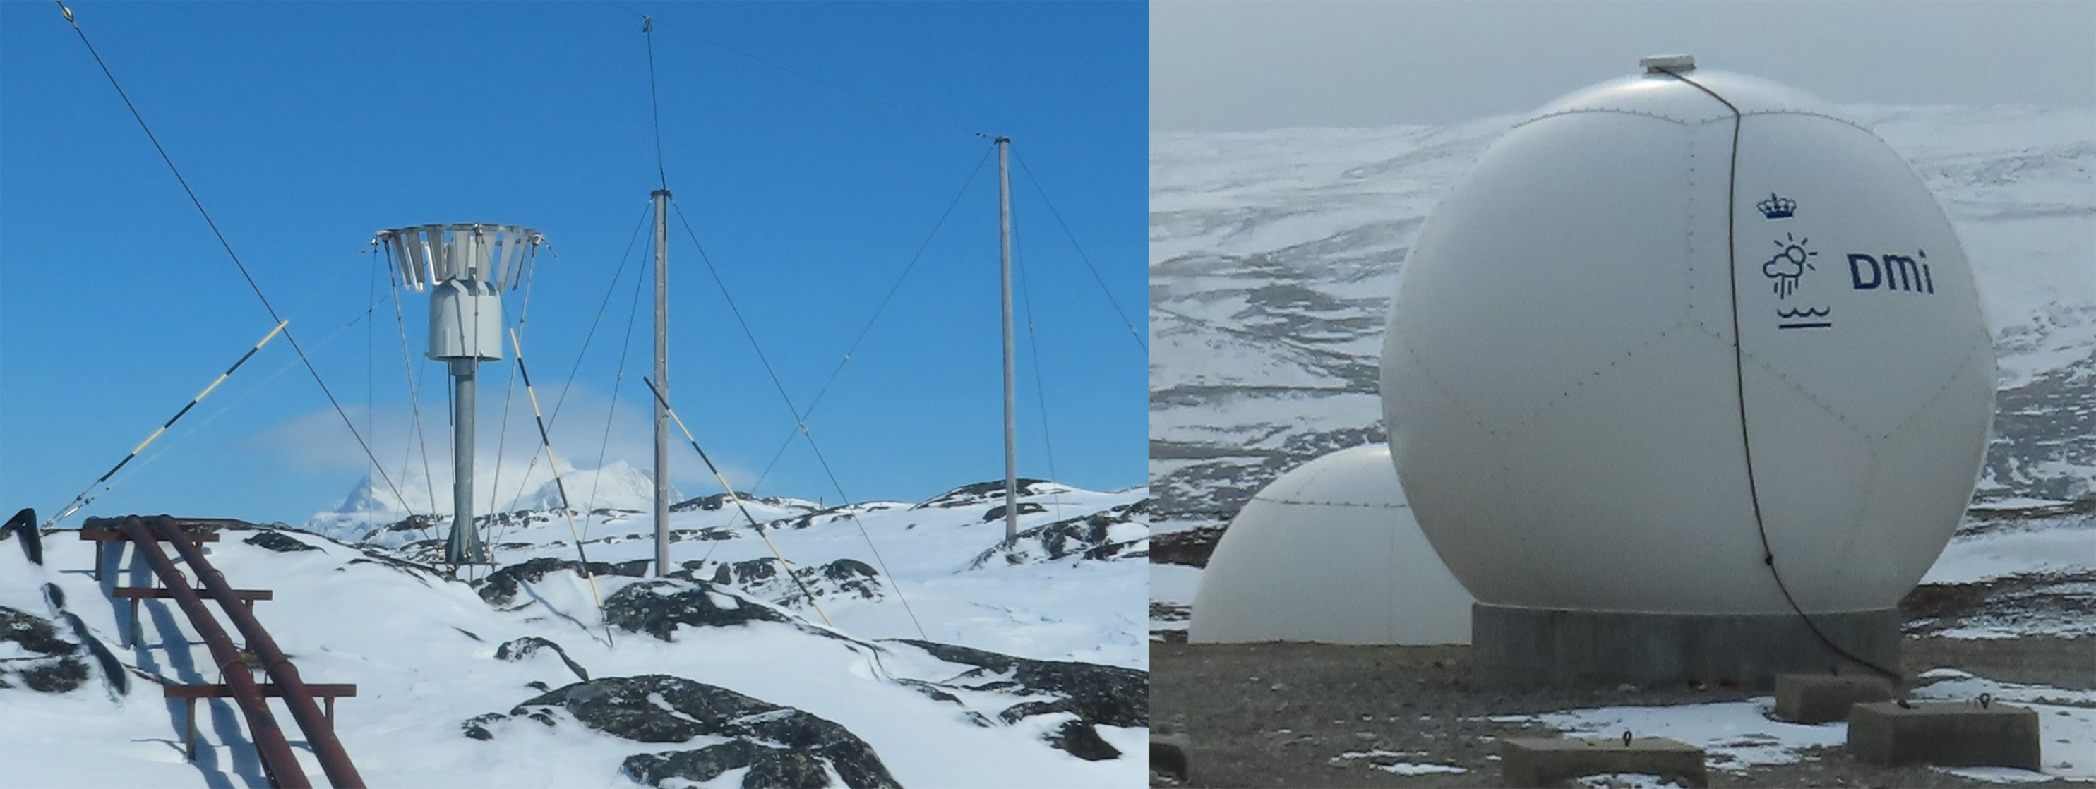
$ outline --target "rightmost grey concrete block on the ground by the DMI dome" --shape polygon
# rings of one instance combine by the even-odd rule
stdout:
[[[2039,768],[2037,709],[1977,701],[1859,703],[1849,753],[1870,764]]]

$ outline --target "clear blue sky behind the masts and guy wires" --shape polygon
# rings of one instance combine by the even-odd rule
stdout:
[[[989,140],[973,132],[1014,138],[1105,293],[1142,329],[1142,4],[73,10],[396,481],[421,454],[386,272],[365,253],[373,230],[543,230],[558,260],[539,260],[526,362],[553,408],[656,188],[639,13],[658,23],[675,203],[803,408],[960,197],[809,419],[851,498],[912,500],[1002,475],[996,163],[975,172]],[[1021,318],[1021,473],[1048,475],[1038,354],[1056,475],[1142,483],[1147,356],[1029,170],[1012,165],[1038,337]],[[643,247],[646,230],[553,427],[568,465],[595,465],[599,444],[610,460],[650,463],[648,293],[606,427]],[[669,255],[675,406],[748,486],[792,419],[675,213]],[[522,291],[507,303],[514,322]],[[402,293],[442,477],[446,379],[421,360],[425,306],[425,293]],[[52,4],[0,4],[0,502],[44,517],[272,326]],[[507,379],[507,364],[484,366],[482,458],[503,442],[503,458],[522,463],[537,437],[522,389],[503,435]],[[717,490],[690,448],[673,463],[685,494]],[[84,515],[298,523],[337,504],[365,467],[277,339]],[[759,492],[836,500],[803,442]]]

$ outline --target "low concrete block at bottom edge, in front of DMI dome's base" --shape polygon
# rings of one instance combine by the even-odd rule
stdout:
[[[1643,772],[1683,787],[1708,787],[1704,751],[1666,737],[1622,739],[1515,737],[1499,741],[1499,774],[1507,787],[1557,787],[1582,774]]]

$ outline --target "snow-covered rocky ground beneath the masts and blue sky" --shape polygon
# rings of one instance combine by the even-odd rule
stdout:
[[[604,471],[614,492],[633,479],[646,481]],[[495,515],[499,567],[472,582],[428,565],[442,523],[394,511],[228,529],[210,557],[233,586],[275,590],[256,615],[308,682],[356,682],[337,732],[371,785],[1138,785],[1149,492],[1027,481],[1021,540],[998,548],[1002,500],[987,488],[920,504],[748,502],[790,573],[721,496],[671,515],[667,580],[646,578],[652,523],[625,506],[646,500],[620,494],[589,515]],[[228,701],[199,705],[199,760],[182,760],[182,707],[153,680],[218,672],[187,619],[149,601],[145,647],[122,647],[128,607],[84,571],[88,544],[42,542],[46,567],[0,542],[0,657],[78,668],[44,670],[61,693],[0,686],[8,783],[264,785]],[[130,555],[105,567],[147,586]],[[46,580],[134,674],[128,697],[105,695]],[[59,751],[94,760],[31,758]]]

